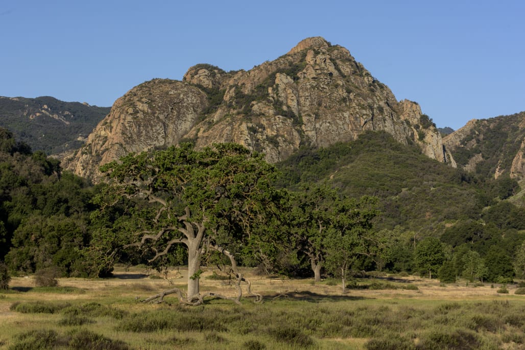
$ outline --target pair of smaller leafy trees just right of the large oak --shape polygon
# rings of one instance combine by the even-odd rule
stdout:
[[[359,254],[367,254],[365,234],[377,214],[376,200],[342,196],[328,184],[303,185],[293,194],[291,235],[299,254],[310,262],[315,281],[321,268],[344,280]]]

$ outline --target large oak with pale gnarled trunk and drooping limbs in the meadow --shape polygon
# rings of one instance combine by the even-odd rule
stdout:
[[[120,208],[127,220],[120,220],[117,229],[109,227],[111,220],[102,225],[99,232],[105,247],[93,247],[106,255],[99,258],[107,259],[117,248],[134,247],[154,261],[175,245],[183,245],[188,263],[186,296],[173,289],[156,297],[162,300],[166,293],[178,293],[181,301],[202,303],[203,296],[213,295],[199,290],[203,256],[220,252],[231,263],[237,280],[234,300],[239,301],[240,283],[247,281],[237,268],[237,258],[243,253],[266,254],[264,247],[271,245],[265,242],[277,234],[268,225],[275,222],[272,213],[277,212],[281,192],[272,186],[276,169],[262,154],[232,143],[203,150],[183,143],[130,154],[102,171],[109,186],[99,197],[99,217]]]

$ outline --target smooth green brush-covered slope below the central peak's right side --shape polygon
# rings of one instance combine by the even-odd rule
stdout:
[[[482,220],[487,208],[497,207],[519,188],[505,176],[477,176],[431,160],[384,132],[318,150],[301,149],[279,168],[281,186],[328,182],[351,197],[376,196],[382,211],[378,228],[399,225],[421,236],[439,237],[458,222]]]

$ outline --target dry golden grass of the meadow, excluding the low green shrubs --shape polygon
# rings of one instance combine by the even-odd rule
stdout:
[[[201,275],[201,291],[215,292],[227,296],[235,296],[235,281],[209,279],[213,271],[219,275],[224,275],[217,269],[204,269]],[[154,310],[168,310],[177,307],[177,300],[174,295],[166,296],[165,303],[143,304],[137,302],[156,294],[162,290],[173,287],[184,288],[187,281],[187,271],[183,268],[170,270],[167,279],[151,278],[151,275],[144,268],[132,267],[126,269],[117,267],[114,271],[114,278],[109,279],[80,279],[67,278],[59,279],[56,288],[36,288],[32,277],[14,277],[10,282],[10,291],[0,293],[0,349],[8,349],[16,343],[19,334],[31,330],[56,329],[63,334],[76,330],[79,327],[60,326],[60,320],[64,315],[55,314],[38,314],[38,313],[20,313],[10,310],[10,307],[17,302],[47,302],[47,303],[69,303],[71,305],[81,305],[89,302],[96,302],[103,305],[109,305],[114,309],[124,310],[129,313],[150,313]],[[246,278],[251,281],[251,288],[254,292],[262,293],[265,296],[264,307],[258,309],[249,301],[243,302],[241,309],[246,313],[254,314],[275,314],[300,315],[304,312],[304,318],[318,317],[315,313],[327,313],[327,315],[346,312],[359,313],[361,309],[370,309],[370,312],[380,310],[386,316],[404,314],[405,311],[415,309],[417,312],[427,313],[434,317],[434,309],[439,305],[447,303],[473,303],[481,302],[490,304],[492,302],[512,302],[514,306],[523,307],[525,310],[525,295],[514,295],[512,286],[507,286],[509,294],[497,293],[499,286],[485,284],[480,287],[474,287],[465,281],[441,285],[437,280],[421,279],[419,277],[393,277],[377,278],[376,280],[361,280],[359,283],[391,283],[394,285],[416,285],[417,290],[369,290],[369,289],[349,289],[342,295],[340,281],[330,280],[320,283],[313,283],[312,279],[286,279],[270,278],[267,276],[255,275],[253,270],[243,270]],[[330,282],[330,283],[329,283]],[[335,283],[335,285],[333,285]],[[246,288],[243,288],[244,296],[247,296]],[[168,306],[171,304],[172,306]],[[498,304],[499,305],[499,304]],[[203,306],[203,310],[232,310],[235,307],[228,301],[214,301]],[[383,307],[383,309],[378,309]],[[503,305],[502,307],[506,307]],[[234,309],[240,310],[240,309]],[[356,311],[357,310],[357,311]],[[386,310],[386,311],[385,311]],[[418,311],[419,310],[419,311]],[[499,310],[499,309],[498,309]],[[242,313],[242,311],[239,311]],[[313,314],[312,314],[313,312]],[[367,311],[365,312],[366,316]],[[385,316],[385,317],[386,317]],[[290,316],[292,317],[292,316]],[[364,317],[364,316],[360,316]],[[412,317],[412,316],[410,316]],[[415,316],[414,316],[415,317]],[[430,317],[430,316],[428,316]],[[428,318],[427,317],[427,318]],[[457,316],[459,317],[459,316]],[[293,317],[292,317],[293,318]],[[300,317],[299,317],[300,318]],[[288,319],[287,319],[288,320]],[[290,319],[291,320],[291,319]],[[296,320],[296,319],[294,319]],[[286,321],[292,322],[292,321]],[[293,321],[293,322],[298,322]],[[293,323],[292,322],[292,323]],[[422,321],[428,322],[428,321]],[[202,348],[203,344],[209,343],[210,337],[217,339],[216,343],[210,348],[232,348],[232,344],[242,344],[247,340],[260,339],[266,344],[266,348],[301,348],[297,344],[285,344],[277,342],[268,335],[255,338],[250,332],[245,335],[233,334],[232,332],[186,332],[173,333],[167,331],[156,331],[153,333],[133,333],[123,332],[116,328],[118,321],[108,317],[96,317],[96,322],[88,325],[82,325],[80,328],[102,334],[111,340],[120,340],[130,344],[132,348],[155,348],[168,349],[173,348],[177,342],[186,342],[184,348]],[[271,326],[271,321],[268,325]],[[428,327],[428,325],[427,325]],[[349,328],[348,328],[349,329]],[[510,334],[512,329],[501,331],[500,334]],[[312,331],[313,332],[313,331]],[[411,332],[403,331],[405,337],[422,337],[428,330],[413,330]],[[477,331],[476,331],[477,332]],[[520,331],[522,333],[522,331]],[[62,334],[61,333],[61,334]],[[521,334],[520,333],[520,334]],[[347,332],[344,336],[326,335],[318,337],[317,333],[311,333],[314,341],[314,348],[321,349],[364,349],[369,337],[362,336],[359,333],[354,335]],[[521,336],[521,335],[520,335]],[[175,337],[175,338],[174,338]],[[206,338],[207,337],[207,338]],[[497,335],[490,335],[488,341],[496,339]],[[509,335],[510,337],[510,335]],[[525,336],[524,336],[525,337]],[[221,341],[220,339],[223,338]],[[415,338],[414,338],[415,339]],[[498,338],[499,339],[499,338]],[[525,338],[524,338],[525,339]],[[484,341],[487,340],[484,338]],[[494,344],[505,345],[507,348],[519,349],[523,344],[509,345],[512,342],[501,343],[500,340],[494,340]],[[498,343],[499,342],[499,343]],[[182,344],[176,343],[176,344]],[[176,347],[176,346],[175,346]],[[235,346],[234,346],[235,347]],[[525,345],[523,345],[525,347]],[[65,347],[64,347],[65,348]],[[487,346],[486,348],[491,348]]]

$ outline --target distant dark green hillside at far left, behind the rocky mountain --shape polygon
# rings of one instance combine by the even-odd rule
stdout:
[[[109,107],[64,102],[44,96],[34,99],[0,97],[0,127],[35,151],[56,154],[83,144]]]

